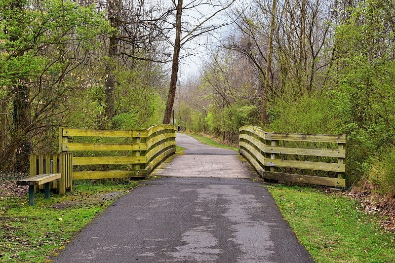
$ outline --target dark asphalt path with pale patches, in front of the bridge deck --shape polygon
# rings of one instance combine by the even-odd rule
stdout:
[[[163,177],[144,184],[119,197],[54,262],[313,262],[261,183]]]

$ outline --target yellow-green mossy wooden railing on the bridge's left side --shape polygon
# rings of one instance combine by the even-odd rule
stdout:
[[[93,142],[73,142],[72,138],[91,138]],[[103,137],[123,138],[129,143],[97,143]],[[90,152],[122,151],[126,156],[73,156],[73,166],[120,165],[131,169],[73,171],[74,179],[106,179],[145,177],[162,160],[175,152],[175,129],[172,125],[160,124],[142,130],[89,130],[60,127],[59,151]]]

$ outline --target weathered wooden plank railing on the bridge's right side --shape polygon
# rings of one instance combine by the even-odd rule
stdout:
[[[287,142],[317,143],[327,146],[325,148],[301,148],[288,146]],[[330,147],[333,145],[336,148]],[[263,178],[338,187],[347,185],[344,179],[346,135],[271,133],[257,127],[243,126],[239,129],[239,146],[240,154]],[[291,160],[286,158],[290,155],[294,156]],[[298,160],[301,155],[332,157],[336,163]],[[282,168],[334,172],[337,178],[285,173],[280,170]]]

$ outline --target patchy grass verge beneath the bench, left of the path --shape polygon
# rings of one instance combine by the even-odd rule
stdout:
[[[2,196],[0,199],[0,262],[46,262],[96,214],[129,192],[138,182],[111,185],[77,183],[66,195]]]

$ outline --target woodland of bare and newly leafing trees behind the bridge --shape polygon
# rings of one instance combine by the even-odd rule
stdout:
[[[233,144],[247,124],[347,134],[349,183],[393,197],[394,26],[393,0],[3,0],[0,170],[56,151],[59,126],[144,128],[174,109]],[[189,43],[219,28],[180,82]]]

